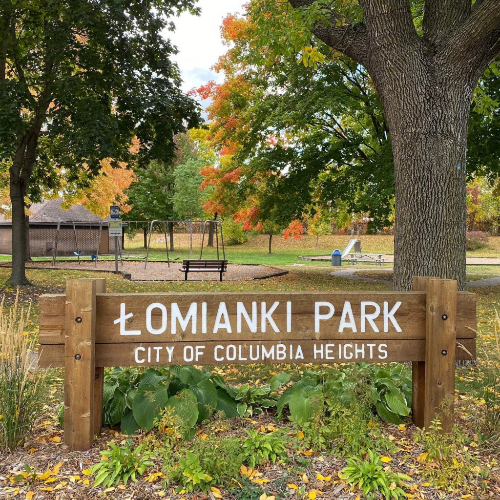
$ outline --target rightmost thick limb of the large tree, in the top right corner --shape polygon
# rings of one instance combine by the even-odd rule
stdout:
[[[498,55],[500,37],[500,0],[478,0],[470,15],[457,26],[442,48],[450,62],[472,67],[481,74]]]

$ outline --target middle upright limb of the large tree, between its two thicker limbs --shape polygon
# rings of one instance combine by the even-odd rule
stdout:
[[[470,13],[470,0],[426,0],[423,37],[435,41],[459,26]]]

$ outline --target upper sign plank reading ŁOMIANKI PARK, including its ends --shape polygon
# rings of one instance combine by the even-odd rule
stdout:
[[[98,343],[425,338],[424,292],[109,293],[96,304]],[[63,342],[63,305],[40,297],[40,343]],[[475,338],[475,324],[475,295],[458,293],[456,337]]]

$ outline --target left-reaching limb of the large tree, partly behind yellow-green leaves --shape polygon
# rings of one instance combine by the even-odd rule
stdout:
[[[293,8],[308,7],[314,0],[288,0]],[[313,33],[334,50],[338,50],[362,65],[367,63],[366,27],[353,25],[339,12],[330,11],[328,25],[318,24]],[[339,21],[339,26],[337,26]],[[330,25],[331,24],[331,25]]]

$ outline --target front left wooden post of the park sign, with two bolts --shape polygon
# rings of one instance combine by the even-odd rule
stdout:
[[[66,282],[64,444],[70,450],[87,450],[93,442],[95,292],[94,279]]]

